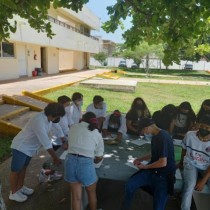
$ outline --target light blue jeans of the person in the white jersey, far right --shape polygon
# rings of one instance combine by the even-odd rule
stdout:
[[[203,173],[204,171],[197,169],[192,164],[184,162],[184,188],[182,191],[181,210],[190,210],[192,195],[197,182],[198,174],[202,175]],[[210,186],[210,179],[207,184]]]

